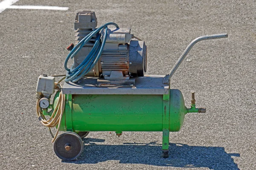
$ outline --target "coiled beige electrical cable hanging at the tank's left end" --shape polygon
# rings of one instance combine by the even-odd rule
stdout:
[[[47,120],[44,116],[44,114],[42,113],[42,110],[39,106],[39,101],[40,98],[37,99],[37,103],[36,103],[36,113],[38,116],[39,121],[46,127],[52,128],[58,125],[55,136],[52,139],[52,143],[55,141],[57,135],[58,135],[58,131],[61,125],[61,119],[64,113],[64,109],[65,109],[65,95],[62,93],[61,90],[61,85],[57,82],[55,82],[55,89],[57,89],[58,91],[60,91],[59,97],[58,97],[58,102],[52,112],[52,116],[50,116],[50,118]],[[51,130],[50,130],[51,133]],[[52,133],[51,133],[51,136]]]

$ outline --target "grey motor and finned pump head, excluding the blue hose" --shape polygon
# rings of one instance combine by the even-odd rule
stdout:
[[[97,18],[92,11],[81,11],[76,14],[74,23],[75,45],[96,29]],[[101,31],[101,39],[105,30]],[[90,53],[95,43],[94,36],[84,44],[74,56],[76,68]],[[147,46],[144,41],[135,40],[130,28],[108,28],[106,43],[101,57],[93,69],[85,76],[102,77],[105,80],[129,80],[130,77],[143,77],[147,68]]]

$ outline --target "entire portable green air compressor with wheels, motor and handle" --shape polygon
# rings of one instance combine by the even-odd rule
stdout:
[[[97,28],[93,11],[78,12],[74,28],[75,44],[67,48],[70,53],[64,62],[67,73],[41,75],[36,87],[37,116],[49,128],[56,155],[65,161],[78,158],[82,139],[92,131],[115,131],[118,137],[122,131],[161,131],[162,156],[167,158],[169,132],[180,130],[186,113],[206,112],[196,108],[195,93],[186,108],[181,91],[170,88],[170,79],[193,45],[227,34],[196,38],[169,74],[145,76],[147,46],[130,28],[116,23]],[[68,67],[70,59],[73,65]],[[56,77],[63,78],[56,81]],[[57,128],[55,135],[52,127]],[[59,131],[64,133],[58,135]]]

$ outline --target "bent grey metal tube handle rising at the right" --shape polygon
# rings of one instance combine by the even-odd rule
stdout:
[[[183,62],[183,60],[185,59],[185,57],[187,56],[187,54],[189,53],[191,48],[197,42],[202,41],[202,40],[212,40],[212,39],[217,39],[217,38],[227,38],[227,33],[226,34],[204,35],[204,36],[198,37],[195,40],[193,40],[192,42],[190,42],[190,44],[187,46],[185,51],[181,54],[181,56],[178,59],[178,61],[173,66],[172,70],[169,72],[169,74],[166,75],[166,77],[164,77],[163,84],[169,84],[170,83],[170,79],[171,79],[172,75],[175,73],[177,68],[180,66],[181,62]]]

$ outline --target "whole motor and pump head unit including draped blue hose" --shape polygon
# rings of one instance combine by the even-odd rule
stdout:
[[[71,69],[65,65],[66,82],[76,82],[87,76],[100,77],[99,83],[134,85],[134,77],[143,77],[147,70],[145,42],[131,34],[130,28],[119,28],[115,23],[107,23],[97,29],[97,22],[95,12],[77,12],[74,22],[75,45],[68,47],[74,63]],[[108,25],[116,28],[108,28]],[[77,48],[74,49],[74,46]],[[93,54],[101,55],[95,59],[92,57],[93,65],[84,68]]]

